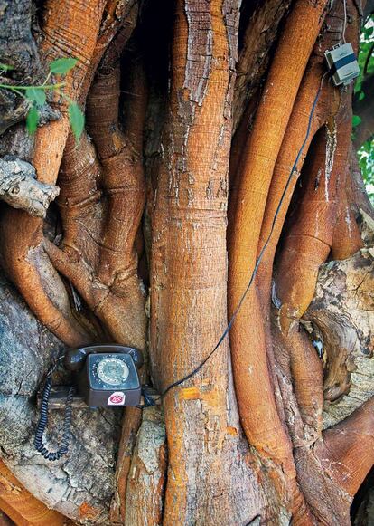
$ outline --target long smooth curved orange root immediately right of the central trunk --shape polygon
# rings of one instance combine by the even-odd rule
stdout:
[[[304,68],[323,22],[324,7],[323,2],[312,7],[301,1],[289,15],[241,159],[240,206],[234,219],[235,232],[229,240],[231,314],[247,286],[248,269],[250,272],[256,261],[268,187]],[[276,409],[267,367],[266,335],[255,289],[248,293],[238,313],[230,332],[230,344],[240,418],[248,441],[260,454],[270,456],[275,464],[282,466],[289,481],[290,507],[296,510],[303,496],[295,481],[291,443]],[[260,384],[252,378],[261,378]]]

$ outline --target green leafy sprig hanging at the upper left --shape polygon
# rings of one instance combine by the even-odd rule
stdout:
[[[45,81],[36,86],[22,86],[22,85],[10,85],[0,84],[0,89],[13,91],[24,100],[29,103],[29,110],[26,116],[26,129],[30,134],[36,131],[38,122],[40,120],[40,110],[46,101],[47,91],[59,91],[61,96],[68,100],[68,115],[70,120],[70,126],[76,141],[78,142],[80,135],[84,129],[84,114],[80,110],[79,105],[70,100],[70,98],[63,93],[61,88],[65,85],[65,82],[57,82],[56,84],[49,84],[48,81],[51,79],[51,75],[64,75],[76,65],[77,59],[66,58],[57,59],[50,64],[50,71]],[[14,67],[9,64],[0,63],[0,73],[14,70]]]

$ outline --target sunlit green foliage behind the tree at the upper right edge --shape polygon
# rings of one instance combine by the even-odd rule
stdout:
[[[373,93],[362,91],[362,81],[366,76],[374,74],[374,15],[370,15],[366,24],[363,26],[360,35],[359,53],[360,77],[356,81],[354,91],[358,94],[359,100],[366,97],[373,97]],[[360,124],[358,115],[353,115],[353,129]],[[374,140],[367,140],[357,152],[362,177],[365,182],[366,191],[374,204]]]

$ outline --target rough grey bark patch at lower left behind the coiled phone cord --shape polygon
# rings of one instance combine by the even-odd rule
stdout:
[[[120,411],[74,410],[70,456],[55,464],[42,459],[33,446],[35,394],[51,357],[57,357],[63,347],[35,320],[4,278],[0,299],[2,458],[18,480],[48,507],[75,520],[106,524]],[[49,426],[51,447],[60,440],[61,423],[61,412],[54,412]]]

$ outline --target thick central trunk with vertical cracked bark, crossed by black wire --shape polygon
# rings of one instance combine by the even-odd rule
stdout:
[[[169,118],[152,215],[151,359],[161,390],[199,365],[226,323],[237,24],[234,1],[178,2]],[[201,373],[165,397],[164,410],[164,524],[238,524],[256,516],[259,502],[238,425],[227,341]]]

